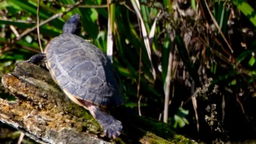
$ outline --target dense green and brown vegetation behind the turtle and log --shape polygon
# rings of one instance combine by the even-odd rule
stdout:
[[[61,17],[42,25],[38,38],[38,0],[2,0],[0,76],[40,52],[39,40],[45,48],[78,13],[81,37],[112,54],[134,112],[203,142],[256,138],[256,1],[86,0],[69,11],[76,2],[41,0],[40,22]],[[0,97],[11,96],[1,88]],[[0,126],[0,138],[18,140],[19,132]]]

